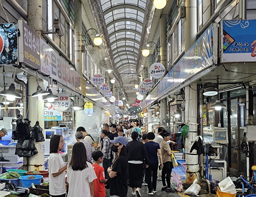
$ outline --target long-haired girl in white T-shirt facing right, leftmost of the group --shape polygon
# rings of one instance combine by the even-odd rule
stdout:
[[[49,156],[49,193],[52,197],[65,197],[65,170],[67,165],[59,153],[64,149],[64,140],[61,135],[53,135],[50,140]],[[68,163],[67,163],[68,164]]]

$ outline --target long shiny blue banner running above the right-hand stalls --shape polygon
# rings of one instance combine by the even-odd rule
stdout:
[[[162,99],[171,94],[196,74],[217,63],[218,46],[217,24],[212,24],[171,68],[166,76],[151,91],[143,101],[142,107],[146,108],[157,99]]]

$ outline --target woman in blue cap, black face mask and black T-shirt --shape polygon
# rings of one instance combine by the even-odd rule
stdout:
[[[109,186],[110,197],[126,197],[127,196],[127,168],[128,162],[126,158],[125,146],[127,140],[123,136],[118,136],[112,143],[112,151],[117,152],[117,157],[113,161],[111,167],[108,168],[109,177],[112,178]]]

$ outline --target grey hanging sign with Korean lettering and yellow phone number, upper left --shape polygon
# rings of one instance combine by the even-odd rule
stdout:
[[[40,37],[23,20],[19,25],[19,62],[38,70],[40,66]]]

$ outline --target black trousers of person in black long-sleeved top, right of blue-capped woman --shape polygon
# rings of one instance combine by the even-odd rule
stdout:
[[[128,163],[129,187],[141,188],[143,183],[143,164]]]

